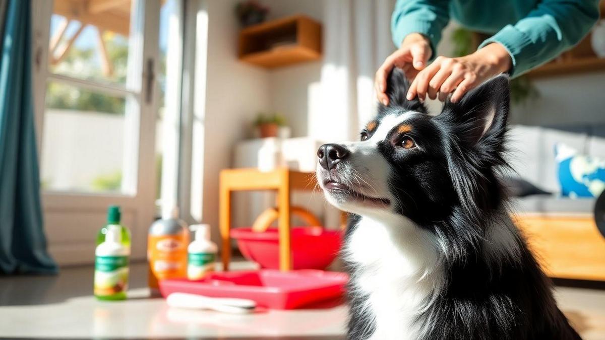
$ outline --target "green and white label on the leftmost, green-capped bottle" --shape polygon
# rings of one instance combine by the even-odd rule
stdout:
[[[110,296],[128,289],[128,257],[97,256],[94,261],[94,295]]]

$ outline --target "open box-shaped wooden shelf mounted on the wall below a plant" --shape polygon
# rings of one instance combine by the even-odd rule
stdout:
[[[239,58],[265,68],[321,59],[321,24],[295,15],[244,28]]]

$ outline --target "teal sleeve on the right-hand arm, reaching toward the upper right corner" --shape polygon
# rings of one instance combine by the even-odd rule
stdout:
[[[599,18],[598,0],[545,0],[517,22],[506,25],[479,48],[502,44],[512,59],[511,76],[519,76],[571,48]]]

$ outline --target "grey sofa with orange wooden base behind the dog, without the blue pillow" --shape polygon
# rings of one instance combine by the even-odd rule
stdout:
[[[517,225],[550,276],[605,281],[605,238],[594,220],[596,199],[561,196],[555,143],[605,159],[605,124],[512,126],[511,176],[551,192],[513,198]]]

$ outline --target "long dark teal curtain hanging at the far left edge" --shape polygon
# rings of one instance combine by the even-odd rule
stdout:
[[[31,83],[31,0],[8,0],[0,54],[0,273],[56,273],[46,250]]]

